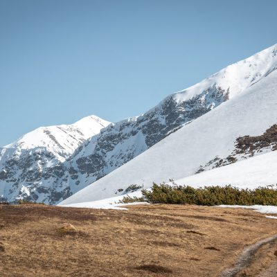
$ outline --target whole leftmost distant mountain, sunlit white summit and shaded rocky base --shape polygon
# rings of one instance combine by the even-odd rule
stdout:
[[[0,200],[57,202],[71,195],[69,188],[59,189],[67,170],[64,161],[107,125],[102,118],[87,116],[72,125],[39,127],[0,148]]]

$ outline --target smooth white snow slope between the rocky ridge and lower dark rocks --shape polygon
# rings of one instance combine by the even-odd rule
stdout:
[[[236,143],[242,136],[259,138],[276,123],[277,71],[271,71],[245,91],[170,134],[61,204],[114,197],[118,189],[123,189],[124,193],[130,184],[149,188],[152,181],[177,180],[194,175],[201,166],[213,164],[217,159],[233,157],[239,161],[269,152],[276,148],[274,143],[258,144],[259,148],[244,152]]]

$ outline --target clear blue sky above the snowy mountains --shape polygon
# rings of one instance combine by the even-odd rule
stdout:
[[[0,0],[0,145],[136,116],[277,43],[276,0]]]

